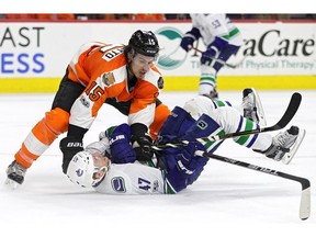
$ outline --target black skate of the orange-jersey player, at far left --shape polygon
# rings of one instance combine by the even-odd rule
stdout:
[[[18,184],[23,183],[25,173],[26,169],[14,160],[7,169],[8,179],[5,181],[5,184],[15,189]]]

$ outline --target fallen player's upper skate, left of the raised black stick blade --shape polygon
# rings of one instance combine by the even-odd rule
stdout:
[[[266,117],[260,98],[253,88],[246,88],[242,91],[242,108],[244,116],[259,124],[266,126]]]

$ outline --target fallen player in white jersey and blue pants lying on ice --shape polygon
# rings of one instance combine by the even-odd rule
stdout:
[[[70,161],[67,176],[81,187],[93,187],[106,194],[178,193],[192,184],[201,174],[207,158],[196,150],[214,153],[223,143],[196,138],[236,133],[258,127],[257,123],[240,115],[233,106],[217,106],[214,101],[198,95],[183,109],[176,106],[162,128],[156,145],[188,140],[188,146],[155,151],[154,159],[136,156],[131,145],[127,124],[111,127],[100,134],[99,142],[90,144],[84,151]],[[236,137],[234,140],[273,160],[293,157],[305,135],[297,126],[272,137],[259,133]],[[149,150],[150,147],[148,147]],[[284,162],[289,163],[290,160]]]

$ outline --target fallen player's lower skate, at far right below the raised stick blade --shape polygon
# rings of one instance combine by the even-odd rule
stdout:
[[[291,126],[290,129],[279,133],[273,137],[272,145],[264,151],[266,156],[278,161],[282,160],[285,165],[290,163],[305,133],[305,129],[300,129],[297,126]]]

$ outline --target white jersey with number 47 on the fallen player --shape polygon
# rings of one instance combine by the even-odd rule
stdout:
[[[95,191],[105,194],[165,193],[163,172],[138,161],[122,165],[112,163]]]

